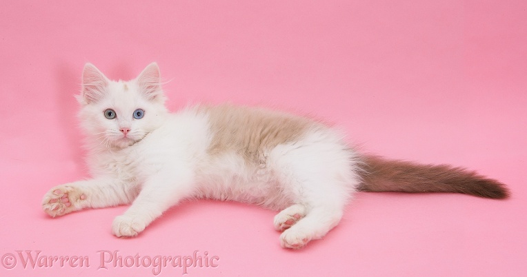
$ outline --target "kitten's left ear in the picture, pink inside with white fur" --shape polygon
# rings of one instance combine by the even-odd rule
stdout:
[[[86,63],[82,71],[82,93],[79,101],[83,104],[95,103],[106,94],[109,80],[95,65]]]

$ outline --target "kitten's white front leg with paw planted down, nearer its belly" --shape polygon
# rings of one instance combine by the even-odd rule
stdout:
[[[185,176],[183,176],[185,175]],[[115,236],[137,236],[155,218],[192,193],[190,174],[159,172],[143,186],[130,208],[112,223]]]

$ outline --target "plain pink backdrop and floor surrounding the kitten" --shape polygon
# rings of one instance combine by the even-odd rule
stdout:
[[[98,269],[97,252],[198,250],[219,266],[190,276],[527,276],[526,1],[352,2],[3,0],[0,275],[153,276]],[[359,193],[300,251],[279,247],[275,212],[239,203],[184,203],[134,239],[110,231],[126,207],[52,219],[43,194],[87,177],[73,95],[88,61],[112,79],[157,61],[171,110],[230,101],[313,114],[368,152],[464,165],[513,196]],[[17,250],[90,267],[24,269]]]

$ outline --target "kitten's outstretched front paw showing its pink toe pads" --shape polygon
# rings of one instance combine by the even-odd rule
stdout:
[[[42,209],[50,216],[63,216],[81,209],[81,202],[86,201],[86,194],[72,185],[53,187],[44,195]]]

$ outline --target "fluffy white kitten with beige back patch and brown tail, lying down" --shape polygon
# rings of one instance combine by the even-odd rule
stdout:
[[[53,187],[43,209],[63,216],[132,204],[113,221],[118,237],[137,236],[188,198],[280,210],[281,246],[297,249],[335,227],[357,190],[508,196],[459,167],[359,154],[337,130],[301,116],[232,105],[169,113],[156,63],[131,81],[110,81],[88,63],[77,99],[93,178]]]

